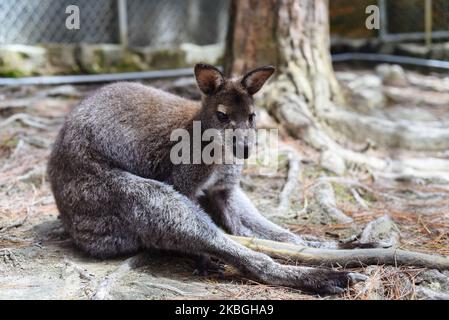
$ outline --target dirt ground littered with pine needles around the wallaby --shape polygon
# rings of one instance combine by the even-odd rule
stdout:
[[[372,70],[340,70],[340,80]],[[369,112],[449,118],[449,78],[407,72],[419,85],[382,86],[382,108]],[[351,76],[352,75],[352,76]],[[351,80],[352,79],[352,80]],[[198,98],[193,79],[155,81],[154,86]],[[0,299],[429,299],[449,297],[449,273],[415,267],[360,266],[369,276],[340,296],[319,297],[267,286],[226,267],[223,277],[202,277],[190,258],[150,253],[135,268],[128,258],[100,261],[77,250],[58,220],[45,177],[47,157],[65,115],[96,86],[0,88]],[[356,97],[357,98],[357,97]],[[276,209],[291,167],[279,156],[274,174],[248,169],[242,187],[263,214],[294,232],[341,240],[362,232],[367,223],[388,215],[382,237],[398,235],[398,245],[414,251],[449,255],[449,186],[424,179],[385,180],[363,167],[339,177],[320,165],[320,154],[282,135],[282,145],[301,155],[297,186],[285,212]],[[391,150],[368,150],[392,156]],[[395,154],[402,151],[394,150]],[[436,154],[449,159],[449,153]],[[328,179],[333,204],[353,222],[323,214],[314,198]],[[321,179],[321,180],[320,180]],[[343,179],[356,181],[346,183]],[[132,258],[131,258],[132,259]],[[128,260],[129,261],[129,260]],[[341,269],[341,266],[336,266]]]

